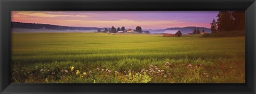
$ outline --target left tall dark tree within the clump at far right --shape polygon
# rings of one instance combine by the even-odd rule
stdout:
[[[230,11],[220,11],[217,17],[218,32],[234,30],[234,18]]]

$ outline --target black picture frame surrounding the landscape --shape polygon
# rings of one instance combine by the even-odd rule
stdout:
[[[0,8],[0,93],[256,93],[255,0],[1,0]],[[227,10],[245,11],[245,83],[11,83],[11,11]]]

